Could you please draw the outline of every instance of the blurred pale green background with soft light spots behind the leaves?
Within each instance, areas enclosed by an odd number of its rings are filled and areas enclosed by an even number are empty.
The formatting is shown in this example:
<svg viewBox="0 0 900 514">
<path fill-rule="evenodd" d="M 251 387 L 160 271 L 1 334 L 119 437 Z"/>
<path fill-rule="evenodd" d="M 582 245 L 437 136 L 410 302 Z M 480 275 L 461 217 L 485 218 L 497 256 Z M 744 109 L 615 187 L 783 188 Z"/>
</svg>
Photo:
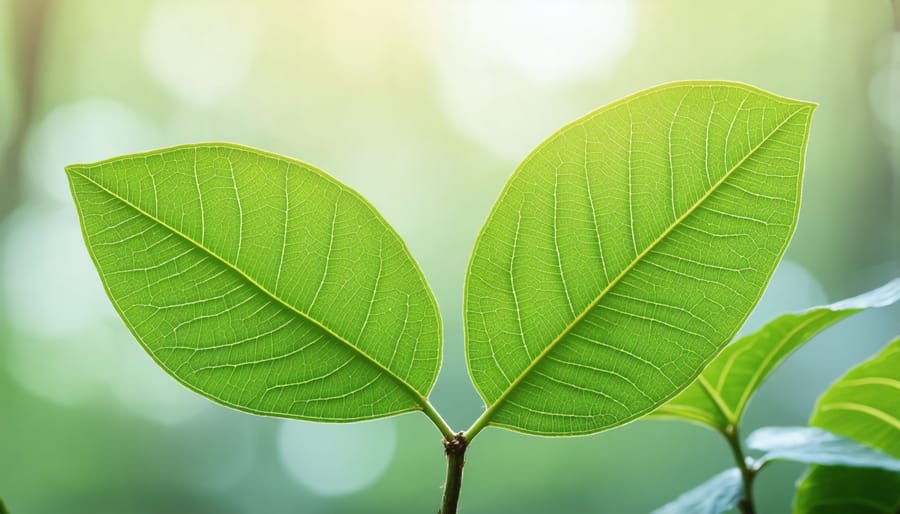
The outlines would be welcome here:
<svg viewBox="0 0 900 514">
<path fill-rule="evenodd" d="M 439 434 L 420 414 L 324 429 L 253 417 L 155 368 L 103 295 L 63 165 L 224 140 L 360 191 L 441 305 L 432 403 L 462 430 L 483 408 L 463 279 L 491 204 L 543 138 L 636 90 L 728 79 L 820 104 L 800 223 L 745 330 L 900 274 L 894 26 L 888 0 L 0 0 L 0 151 L 21 150 L 0 161 L 0 497 L 13 514 L 278 514 L 434 512 L 441 494 Z M 818 337 L 763 386 L 744 433 L 805 423 L 898 332 L 893 307 Z M 461 508 L 649 512 L 729 464 L 683 423 L 489 429 Z M 760 512 L 788 512 L 801 471 L 767 469 Z"/>
</svg>

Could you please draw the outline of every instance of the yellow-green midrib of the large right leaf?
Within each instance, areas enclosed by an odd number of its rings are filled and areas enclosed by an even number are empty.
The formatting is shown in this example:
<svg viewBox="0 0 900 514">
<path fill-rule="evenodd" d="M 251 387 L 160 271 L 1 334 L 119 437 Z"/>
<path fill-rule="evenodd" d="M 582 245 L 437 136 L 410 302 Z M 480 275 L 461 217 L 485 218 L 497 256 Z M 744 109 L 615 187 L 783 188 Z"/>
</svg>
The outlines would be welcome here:
<svg viewBox="0 0 900 514">
<path fill-rule="evenodd" d="M 489 406 L 489 407 L 481 414 L 481 416 L 479 416 L 479 418 L 475 421 L 475 423 L 472 424 L 472 427 L 466 432 L 466 437 L 467 437 L 468 439 L 471 440 L 472 437 L 474 437 L 478 432 L 480 432 L 485 426 L 487 426 L 487 425 L 490 423 L 491 417 L 493 417 L 493 414 L 497 411 L 497 409 L 499 408 L 499 406 L 503 404 L 503 402 L 509 397 L 510 394 L 512 394 L 513 391 L 515 391 L 515 389 L 516 389 L 516 388 L 518 387 L 518 385 L 525 379 L 525 377 L 527 377 L 527 376 L 531 373 L 531 371 L 533 371 L 534 368 L 537 367 L 537 365 L 544 359 L 544 357 L 546 357 L 546 356 L 547 356 L 547 355 L 548 355 L 548 354 L 556 347 L 556 345 L 559 344 L 560 341 L 562 341 L 563 339 L 565 339 L 566 336 L 569 335 L 569 333 L 570 333 L 570 332 L 571 332 L 571 331 L 572 331 L 579 323 L 581 323 L 581 321 L 584 320 L 584 318 L 585 318 L 591 311 L 594 310 L 594 308 L 600 303 L 600 301 L 601 301 L 604 297 L 606 297 L 606 295 L 607 295 L 607 294 L 608 294 L 608 293 L 609 293 L 616 285 L 618 285 L 618 283 L 619 283 L 626 275 L 628 275 L 628 274 L 631 272 L 631 270 L 634 269 L 634 267 L 637 266 L 637 264 L 638 264 L 639 262 L 641 262 L 642 259 L 643 259 L 644 257 L 647 256 L 647 254 L 649 254 L 654 248 L 656 248 L 656 246 L 657 246 L 660 242 L 662 242 L 664 239 L 666 239 L 666 238 L 669 236 L 669 234 L 671 234 L 672 231 L 673 231 L 676 227 L 678 227 L 679 225 L 681 225 L 681 223 L 682 223 L 685 219 L 687 219 L 691 214 L 693 214 L 693 212 L 694 212 L 700 205 L 702 205 L 702 204 L 703 204 L 703 203 L 704 203 L 704 202 L 705 202 L 705 201 L 706 201 L 713 193 L 715 193 L 715 192 L 719 189 L 719 187 L 720 187 L 723 183 L 725 183 L 725 181 L 726 181 L 729 177 L 731 177 L 738 169 L 740 169 L 741 166 L 744 165 L 744 163 L 747 161 L 747 159 L 749 159 L 751 156 L 753 156 L 753 154 L 755 154 L 755 153 L 757 152 L 757 150 L 759 150 L 760 148 L 762 148 L 762 146 L 763 146 L 767 141 L 769 141 L 769 139 L 771 139 L 775 134 L 777 134 L 785 124 L 787 124 L 789 121 L 791 121 L 792 119 L 794 119 L 794 117 L 797 116 L 798 114 L 800 114 L 801 112 L 810 110 L 810 108 L 811 108 L 811 107 L 808 106 L 808 105 L 802 105 L 799 109 L 797 109 L 796 111 L 794 111 L 794 112 L 792 112 L 791 114 L 789 114 L 788 116 L 786 116 L 785 119 L 782 120 L 778 125 L 776 125 L 775 128 L 772 129 L 771 132 L 769 132 L 768 134 L 766 134 L 766 136 L 765 136 L 759 143 L 757 143 L 756 146 L 754 146 L 753 148 L 751 148 L 750 151 L 747 152 L 747 154 L 746 154 L 744 157 L 742 157 L 740 161 L 738 161 L 734 166 L 731 167 L 731 169 L 729 169 L 727 172 L 725 172 L 725 173 L 722 175 L 722 177 L 721 177 L 718 181 L 716 181 L 716 183 L 713 184 L 713 186 L 710 187 L 710 189 L 709 189 L 708 191 L 706 191 L 706 193 L 704 193 L 703 196 L 701 196 L 701 197 L 694 203 L 694 205 L 692 205 L 692 206 L 691 206 L 689 209 L 687 209 L 681 216 L 679 216 L 675 221 L 673 221 L 671 225 L 669 225 L 669 226 L 668 226 L 668 227 L 667 227 L 667 228 L 666 228 L 659 236 L 657 236 L 657 238 L 656 238 L 655 240 L 653 240 L 653 242 L 651 242 L 649 245 L 647 245 L 647 247 L 646 247 L 640 254 L 638 254 L 638 255 L 637 255 L 637 256 L 636 256 L 636 257 L 635 257 L 635 258 L 634 258 L 634 259 L 633 259 L 633 260 L 632 260 L 632 261 L 631 261 L 631 262 L 630 262 L 630 263 L 629 263 L 622 271 L 619 272 L 618 275 L 616 275 L 616 276 L 615 276 L 615 277 L 614 277 L 614 278 L 606 285 L 606 287 L 604 287 L 604 288 L 597 294 L 597 297 L 594 298 L 594 300 L 593 300 L 591 303 L 589 303 L 588 306 L 585 307 L 584 310 L 582 310 L 581 313 L 580 313 L 580 314 L 579 314 L 572 322 L 570 322 L 570 323 L 566 326 L 566 328 L 565 328 L 565 329 L 564 329 L 564 330 L 563 330 L 556 338 L 553 339 L 553 341 L 550 342 L 550 344 L 548 344 L 546 347 L 544 347 L 543 350 L 541 350 L 541 353 L 539 353 L 539 354 L 537 355 L 537 357 L 535 357 L 535 359 L 534 359 L 533 361 L 531 361 L 531 364 L 529 364 L 529 365 L 522 371 L 522 373 L 520 373 L 519 376 L 516 377 L 516 379 L 513 380 L 512 383 L 509 384 L 509 386 L 506 388 L 506 390 L 504 390 L 503 393 L 501 393 L 500 396 L 497 397 L 497 399 L 494 401 L 494 403 L 492 403 L 492 404 L 491 404 L 491 405 L 490 405 L 490 406 Z"/>
</svg>

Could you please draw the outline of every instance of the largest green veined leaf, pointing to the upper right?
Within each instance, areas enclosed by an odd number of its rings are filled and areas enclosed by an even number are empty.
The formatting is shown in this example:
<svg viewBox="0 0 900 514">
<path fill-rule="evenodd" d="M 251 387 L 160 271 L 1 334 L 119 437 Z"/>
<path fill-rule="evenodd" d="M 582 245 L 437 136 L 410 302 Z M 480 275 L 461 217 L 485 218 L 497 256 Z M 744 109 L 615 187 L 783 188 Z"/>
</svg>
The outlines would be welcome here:
<svg viewBox="0 0 900 514">
<path fill-rule="evenodd" d="M 673 83 L 541 143 L 469 264 L 466 354 L 487 410 L 467 435 L 593 433 L 696 378 L 790 239 L 813 109 Z"/>
</svg>

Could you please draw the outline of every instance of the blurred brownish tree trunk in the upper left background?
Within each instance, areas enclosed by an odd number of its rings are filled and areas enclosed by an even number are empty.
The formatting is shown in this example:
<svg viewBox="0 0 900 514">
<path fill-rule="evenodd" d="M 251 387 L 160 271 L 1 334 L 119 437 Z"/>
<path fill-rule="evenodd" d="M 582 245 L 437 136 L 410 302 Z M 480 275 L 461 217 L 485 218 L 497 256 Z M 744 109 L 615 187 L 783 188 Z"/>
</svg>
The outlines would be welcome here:
<svg viewBox="0 0 900 514">
<path fill-rule="evenodd" d="M 48 14 L 54 0 L 11 0 L 13 80 L 16 103 L 12 130 L 0 166 L 0 219 L 18 204 L 22 190 L 22 147 L 38 96 Z"/>
</svg>

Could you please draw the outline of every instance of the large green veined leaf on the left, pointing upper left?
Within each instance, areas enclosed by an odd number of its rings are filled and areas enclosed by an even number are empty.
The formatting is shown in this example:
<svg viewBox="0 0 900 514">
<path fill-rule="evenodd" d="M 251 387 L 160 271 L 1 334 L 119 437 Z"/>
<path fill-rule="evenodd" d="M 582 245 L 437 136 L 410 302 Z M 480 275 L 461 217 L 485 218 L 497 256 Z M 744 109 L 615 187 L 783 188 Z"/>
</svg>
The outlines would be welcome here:
<svg viewBox="0 0 900 514">
<path fill-rule="evenodd" d="M 316 421 L 427 408 L 437 306 L 403 241 L 353 190 L 220 143 L 66 171 L 113 305 L 187 387 Z"/>
</svg>

